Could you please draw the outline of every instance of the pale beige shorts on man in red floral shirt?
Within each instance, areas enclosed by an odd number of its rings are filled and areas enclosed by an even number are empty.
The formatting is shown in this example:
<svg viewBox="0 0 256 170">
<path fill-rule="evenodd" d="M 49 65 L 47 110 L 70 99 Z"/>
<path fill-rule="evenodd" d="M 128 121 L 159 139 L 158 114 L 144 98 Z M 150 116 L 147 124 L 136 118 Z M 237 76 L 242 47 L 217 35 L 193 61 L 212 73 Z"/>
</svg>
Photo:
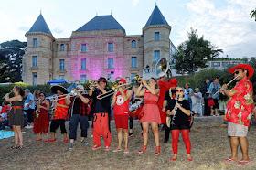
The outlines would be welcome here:
<svg viewBox="0 0 256 170">
<path fill-rule="evenodd" d="M 232 137 L 246 137 L 248 133 L 248 126 L 236 124 L 233 122 L 228 123 L 228 135 Z"/>
</svg>

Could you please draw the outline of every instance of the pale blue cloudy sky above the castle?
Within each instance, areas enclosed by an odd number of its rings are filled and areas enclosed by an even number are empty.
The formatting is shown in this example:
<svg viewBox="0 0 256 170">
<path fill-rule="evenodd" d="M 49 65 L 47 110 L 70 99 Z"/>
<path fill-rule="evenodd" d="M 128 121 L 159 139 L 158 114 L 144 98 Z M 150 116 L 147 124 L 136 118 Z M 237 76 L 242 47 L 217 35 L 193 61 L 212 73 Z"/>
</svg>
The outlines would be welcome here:
<svg viewBox="0 0 256 170">
<path fill-rule="evenodd" d="M 219 57 L 256 57 L 256 22 L 250 19 L 256 0 L 2 0 L 0 43 L 26 41 L 40 11 L 55 38 L 69 38 L 94 16 L 110 14 L 126 35 L 142 35 L 155 4 L 172 27 L 176 47 L 193 27 L 199 37 L 224 50 Z"/>
</svg>

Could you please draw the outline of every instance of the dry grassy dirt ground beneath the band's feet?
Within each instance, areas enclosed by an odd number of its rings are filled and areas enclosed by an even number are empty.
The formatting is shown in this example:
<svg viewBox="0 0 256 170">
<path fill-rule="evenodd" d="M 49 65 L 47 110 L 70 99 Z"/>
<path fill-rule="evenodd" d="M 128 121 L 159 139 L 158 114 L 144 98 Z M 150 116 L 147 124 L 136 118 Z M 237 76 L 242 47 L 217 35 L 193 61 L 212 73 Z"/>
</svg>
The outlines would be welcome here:
<svg viewBox="0 0 256 170">
<path fill-rule="evenodd" d="M 57 132 L 54 143 L 35 142 L 37 136 L 32 129 L 23 129 L 25 148 L 12 150 L 14 137 L 0 140 L 0 169 L 256 169 L 256 126 L 251 126 L 248 134 L 250 143 L 249 155 L 255 162 L 242 167 L 236 163 L 224 164 L 223 159 L 230 155 L 227 125 L 223 124 L 223 116 L 195 118 L 190 132 L 192 143 L 192 162 L 187 161 L 185 144 L 180 135 L 178 159 L 170 161 L 173 155 L 171 140 L 163 143 L 165 132 L 160 132 L 161 154 L 155 156 L 153 133 L 149 133 L 148 149 L 144 154 L 138 154 L 142 149 L 143 139 L 140 137 L 141 127 L 138 120 L 133 121 L 134 135 L 129 138 L 130 154 L 113 153 L 117 146 L 117 132 L 112 121 L 112 146 L 110 151 L 101 149 L 92 151 L 93 140 L 91 128 L 88 130 L 89 145 L 76 141 L 72 150 L 69 143 L 61 143 L 63 136 Z M 90 122 L 91 123 L 91 122 Z M 69 122 L 66 122 L 69 129 Z M 69 134 L 69 131 L 68 131 Z M 80 136 L 80 130 L 78 132 Z M 45 136 L 43 136 L 45 137 Z M 103 140 L 101 140 L 103 146 Z M 241 152 L 239 150 L 239 156 Z"/>
</svg>

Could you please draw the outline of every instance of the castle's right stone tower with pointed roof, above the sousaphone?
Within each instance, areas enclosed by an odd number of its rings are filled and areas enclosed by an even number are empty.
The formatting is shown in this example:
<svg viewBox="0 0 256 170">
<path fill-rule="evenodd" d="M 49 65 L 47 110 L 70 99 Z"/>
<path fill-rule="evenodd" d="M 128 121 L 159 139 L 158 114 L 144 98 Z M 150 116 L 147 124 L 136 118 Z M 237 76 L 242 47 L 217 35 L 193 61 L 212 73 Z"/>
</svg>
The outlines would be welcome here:
<svg viewBox="0 0 256 170">
<path fill-rule="evenodd" d="M 170 58 L 171 28 L 155 5 L 155 9 L 143 28 L 144 69 L 154 69 L 160 58 Z"/>
</svg>

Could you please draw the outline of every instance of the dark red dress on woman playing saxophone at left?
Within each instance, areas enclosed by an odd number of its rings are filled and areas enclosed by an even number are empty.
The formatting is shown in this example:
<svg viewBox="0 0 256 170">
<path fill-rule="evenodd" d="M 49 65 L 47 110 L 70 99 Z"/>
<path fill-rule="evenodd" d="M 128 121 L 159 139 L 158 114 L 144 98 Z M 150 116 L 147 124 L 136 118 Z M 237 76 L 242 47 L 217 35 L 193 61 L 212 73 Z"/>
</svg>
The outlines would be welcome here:
<svg viewBox="0 0 256 170">
<path fill-rule="evenodd" d="M 42 103 L 41 106 L 47 107 L 47 104 Z M 41 108 L 39 118 L 35 119 L 35 122 L 34 122 L 34 128 L 33 128 L 34 134 L 48 133 L 48 126 L 49 126 L 48 111 Z"/>
</svg>

